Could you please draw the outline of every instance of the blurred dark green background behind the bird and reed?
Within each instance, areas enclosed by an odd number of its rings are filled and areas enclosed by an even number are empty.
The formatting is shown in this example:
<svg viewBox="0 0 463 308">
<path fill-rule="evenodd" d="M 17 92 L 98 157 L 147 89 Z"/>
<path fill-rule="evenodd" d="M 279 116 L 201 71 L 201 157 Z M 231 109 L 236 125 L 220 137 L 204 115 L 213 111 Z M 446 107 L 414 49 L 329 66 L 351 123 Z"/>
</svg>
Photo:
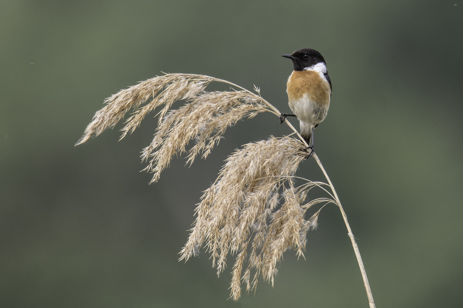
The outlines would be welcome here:
<svg viewBox="0 0 463 308">
<path fill-rule="evenodd" d="M 152 185 L 139 172 L 151 116 L 74 147 L 106 97 L 161 71 L 256 84 L 289 112 L 280 55 L 306 47 L 333 82 L 316 151 L 377 307 L 462 307 L 462 38 L 461 0 L 1 1 L 0 307 L 368 307 L 334 206 L 307 260 L 287 252 L 275 287 L 238 302 L 230 264 L 218 278 L 205 252 L 177 261 L 226 156 L 291 132 L 274 115 Z M 298 175 L 323 179 L 313 159 Z"/>
</svg>

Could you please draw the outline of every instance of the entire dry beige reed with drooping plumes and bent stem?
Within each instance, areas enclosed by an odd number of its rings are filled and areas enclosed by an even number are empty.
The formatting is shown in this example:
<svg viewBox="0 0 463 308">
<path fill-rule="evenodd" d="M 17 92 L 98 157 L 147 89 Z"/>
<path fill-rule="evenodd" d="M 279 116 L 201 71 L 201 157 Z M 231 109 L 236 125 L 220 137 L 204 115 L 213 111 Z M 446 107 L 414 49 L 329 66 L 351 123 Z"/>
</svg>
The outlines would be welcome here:
<svg viewBox="0 0 463 308">
<path fill-rule="evenodd" d="M 238 90 L 205 91 L 211 82 L 223 82 Z M 95 113 L 76 145 L 88 141 L 92 135 L 98 136 L 106 128 L 113 128 L 125 113 L 133 110 L 122 128 L 121 138 L 124 138 L 148 113 L 159 107 L 156 133 L 141 156 L 148 161 L 145 170 L 154 173 L 151 182 L 156 182 L 174 155 L 187 153 L 187 163 L 190 164 L 198 155 L 206 158 L 226 128 L 240 119 L 252 118 L 265 111 L 280 115 L 260 96 L 258 88 L 254 90 L 256 93 L 205 75 L 157 76 L 106 99 L 106 106 Z M 179 100 L 186 101 L 186 104 L 171 109 Z M 343 215 L 369 305 L 374 308 L 360 252 L 332 182 L 316 154 L 313 157 L 328 183 L 294 176 L 299 163 L 307 156 L 307 152 L 301 151 L 307 144 L 294 127 L 287 120 L 285 122 L 300 140 L 290 136 L 271 137 L 244 145 L 226 159 L 219 177 L 201 197 L 194 227 L 180 252 L 180 259 L 188 260 L 205 245 L 220 274 L 226 267 L 227 255 L 236 256 L 230 289 L 231 297 L 237 300 L 241 295 L 241 284 L 246 284 L 248 292 L 256 289 L 261 275 L 273 285 L 276 264 L 284 251 L 294 249 L 298 256 L 303 256 L 307 231 L 316 227 L 321 208 L 334 203 Z M 194 141 L 194 145 L 187 150 L 190 141 Z M 302 185 L 295 186 L 297 180 L 303 182 Z M 329 197 L 308 201 L 307 193 L 315 187 L 324 190 Z M 321 203 L 323 206 L 306 220 L 307 210 Z"/>
</svg>

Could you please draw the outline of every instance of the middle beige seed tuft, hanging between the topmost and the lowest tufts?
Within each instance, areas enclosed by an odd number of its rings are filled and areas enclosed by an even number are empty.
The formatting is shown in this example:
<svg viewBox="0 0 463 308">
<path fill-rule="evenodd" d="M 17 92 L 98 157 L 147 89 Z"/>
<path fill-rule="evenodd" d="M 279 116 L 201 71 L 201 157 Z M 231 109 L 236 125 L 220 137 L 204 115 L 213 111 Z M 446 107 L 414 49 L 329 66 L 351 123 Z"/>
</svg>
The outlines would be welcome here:
<svg viewBox="0 0 463 308">
<path fill-rule="evenodd" d="M 187 105 L 169 111 L 142 152 L 143 160 L 149 160 L 145 170 L 154 173 L 151 182 L 159 179 L 174 154 L 187 152 L 190 140 L 195 142 L 187 155 L 187 163 L 191 164 L 200 153 L 207 157 L 228 126 L 265 111 L 269 110 L 262 99 L 247 91 L 202 92 L 189 99 Z"/>
</svg>

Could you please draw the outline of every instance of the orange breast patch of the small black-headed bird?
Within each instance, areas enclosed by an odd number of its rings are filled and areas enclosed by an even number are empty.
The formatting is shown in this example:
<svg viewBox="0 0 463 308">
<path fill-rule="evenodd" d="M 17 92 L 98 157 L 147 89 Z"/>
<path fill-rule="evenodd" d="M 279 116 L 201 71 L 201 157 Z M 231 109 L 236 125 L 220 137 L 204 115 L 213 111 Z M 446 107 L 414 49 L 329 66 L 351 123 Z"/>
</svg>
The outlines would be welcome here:
<svg viewBox="0 0 463 308">
<path fill-rule="evenodd" d="M 293 71 L 286 85 L 289 101 L 298 101 L 306 94 L 320 107 L 327 107 L 330 104 L 330 84 L 316 71 Z"/>
</svg>

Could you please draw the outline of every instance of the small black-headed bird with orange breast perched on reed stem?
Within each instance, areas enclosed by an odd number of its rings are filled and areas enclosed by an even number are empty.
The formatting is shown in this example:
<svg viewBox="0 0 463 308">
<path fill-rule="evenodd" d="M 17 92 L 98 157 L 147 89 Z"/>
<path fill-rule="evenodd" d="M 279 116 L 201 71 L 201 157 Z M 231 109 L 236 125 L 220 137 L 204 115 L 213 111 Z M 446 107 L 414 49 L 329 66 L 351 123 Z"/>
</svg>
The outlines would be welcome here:
<svg viewBox="0 0 463 308">
<path fill-rule="evenodd" d="M 304 150 L 314 152 L 313 129 L 326 117 L 330 107 L 332 84 L 325 58 L 311 48 L 303 48 L 294 51 L 290 55 L 282 55 L 293 62 L 294 70 L 289 75 L 286 83 L 289 108 L 294 114 L 281 113 L 280 123 L 286 117 L 299 119 L 300 135 L 309 145 Z"/>
</svg>

